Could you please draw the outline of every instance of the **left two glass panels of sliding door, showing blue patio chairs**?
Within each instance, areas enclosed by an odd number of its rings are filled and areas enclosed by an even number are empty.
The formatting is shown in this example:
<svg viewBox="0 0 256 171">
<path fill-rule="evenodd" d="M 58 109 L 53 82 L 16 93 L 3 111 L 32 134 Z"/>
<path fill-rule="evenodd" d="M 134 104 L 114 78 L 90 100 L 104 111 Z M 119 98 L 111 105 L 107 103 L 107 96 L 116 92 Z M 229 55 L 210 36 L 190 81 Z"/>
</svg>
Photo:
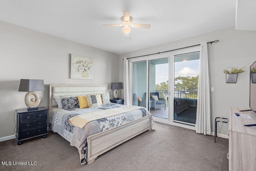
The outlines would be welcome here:
<svg viewBox="0 0 256 171">
<path fill-rule="evenodd" d="M 132 63 L 132 105 L 168 119 L 168 58 Z"/>
</svg>

